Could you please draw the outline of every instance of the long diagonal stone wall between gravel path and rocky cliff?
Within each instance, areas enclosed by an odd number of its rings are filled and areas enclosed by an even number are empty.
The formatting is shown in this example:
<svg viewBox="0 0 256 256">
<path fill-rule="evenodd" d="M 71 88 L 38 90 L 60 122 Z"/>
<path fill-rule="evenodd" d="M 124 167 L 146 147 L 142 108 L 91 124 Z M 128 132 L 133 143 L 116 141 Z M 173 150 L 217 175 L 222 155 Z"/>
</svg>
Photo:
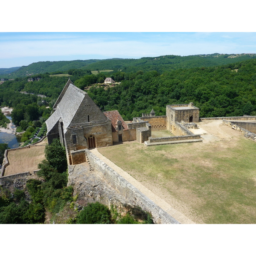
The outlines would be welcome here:
<svg viewBox="0 0 256 256">
<path fill-rule="evenodd" d="M 131 185 L 122 176 L 116 173 L 106 163 L 96 157 L 88 149 L 85 149 L 87 158 L 93 167 L 93 170 L 111 184 L 125 198 L 132 199 L 134 205 L 137 205 L 146 212 L 151 213 L 154 223 L 157 224 L 180 224 L 175 218 L 172 218 L 162 208 L 154 204 L 149 198 L 141 193 L 136 187 Z"/>
</svg>

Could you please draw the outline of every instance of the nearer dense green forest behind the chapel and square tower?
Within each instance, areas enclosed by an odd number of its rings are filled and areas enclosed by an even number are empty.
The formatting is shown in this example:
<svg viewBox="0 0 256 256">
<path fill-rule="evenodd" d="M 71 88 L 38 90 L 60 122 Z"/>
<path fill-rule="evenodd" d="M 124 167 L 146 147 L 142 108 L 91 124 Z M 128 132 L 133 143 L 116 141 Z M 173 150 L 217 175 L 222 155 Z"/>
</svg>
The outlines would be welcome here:
<svg viewBox="0 0 256 256">
<path fill-rule="evenodd" d="M 256 59 L 163 73 L 139 70 L 77 74 L 70 79 L 83 89 L 108 76 L 121 83 L 114 87 L 93 85 L 87 92 L 102 111 L 118 110 L 125 120 L 149 113 L 152 108 L 156 115 L 165 115 L 166 105 L 189 102 L 200 108 L 201 117 L 256 115 Z M 52 107 L 67 79 L 41 74 L 33 81 L 27 77 L 5 81 L 0 85 L 0 105 L 25 109 L 23 105 L 31 104 L 32 96 L 19 92 L 26 91 L 47 96 Z M 41 98 L 33 101 L 41 104 Z"/>
</svg>

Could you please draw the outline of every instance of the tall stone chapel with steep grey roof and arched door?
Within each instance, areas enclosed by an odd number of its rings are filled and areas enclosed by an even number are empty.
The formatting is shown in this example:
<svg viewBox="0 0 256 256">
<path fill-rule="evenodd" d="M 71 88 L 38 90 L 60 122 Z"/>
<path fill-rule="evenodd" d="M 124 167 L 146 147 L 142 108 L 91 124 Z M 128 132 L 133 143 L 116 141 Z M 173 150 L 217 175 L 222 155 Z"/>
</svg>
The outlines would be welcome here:
<svg viewBox="0 0 256 256">
<path fill-rule="evenodd" d="M 70 79 L 53 110 L 46 121 L 48 143 L 60 138 L 69 164 L 72 164 L 70 151 L 113 145 L 111 120 Z"/>
</svg>

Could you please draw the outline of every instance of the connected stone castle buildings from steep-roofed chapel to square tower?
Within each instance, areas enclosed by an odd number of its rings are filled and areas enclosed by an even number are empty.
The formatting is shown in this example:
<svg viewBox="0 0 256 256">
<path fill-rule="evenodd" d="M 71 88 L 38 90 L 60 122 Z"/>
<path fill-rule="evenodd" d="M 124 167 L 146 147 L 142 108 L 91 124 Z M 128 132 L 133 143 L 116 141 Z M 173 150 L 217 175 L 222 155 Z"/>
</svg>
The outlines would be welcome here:
<svg viewBox="0 0 256 256">
<path fill-rule="evenodd" d="M 151 130 L 167 129 L 175 135 L 157 138 L 161 143 L 180 140 L 182 136 L 182 140 L 201 141 L 198 140 L 200 135 L 192 134 L 179 123 L 181 120 L 198 122 L 199 109 L 192 103 L 167 105 L 166 116 L 155 116 L 152 109 L 150 114 L 143 114 L 142 117 L 134 118 L 133 122 L 126 123 L 117 110 L 102 112 L 88 94 L 69 79 L 53 106 L 53 111 L 46 121 L 48 143 L 51 144 L 53 139 L 60 138 L 70 165 L 77 163 L 73 156 L 85 148 L 105 147 L 133 140 L 145 145 L 157 143 L 155 138 L 151 137 Z"/>
</svg>

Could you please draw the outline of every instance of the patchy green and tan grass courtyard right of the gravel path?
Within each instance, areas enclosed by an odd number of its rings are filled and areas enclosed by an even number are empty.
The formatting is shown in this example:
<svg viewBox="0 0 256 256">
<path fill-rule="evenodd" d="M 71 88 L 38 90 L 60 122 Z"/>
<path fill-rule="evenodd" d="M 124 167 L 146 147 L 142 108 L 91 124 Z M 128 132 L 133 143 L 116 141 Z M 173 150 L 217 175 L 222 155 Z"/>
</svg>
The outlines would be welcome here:
<svg viewBox="0 0 256 256">
<path fill-rule="evenodd" d="M 221 121 L 200 122 L 203 143 L 98 151 L 196 223 L 256 223 L 256 143 Z"/>
</svg>

